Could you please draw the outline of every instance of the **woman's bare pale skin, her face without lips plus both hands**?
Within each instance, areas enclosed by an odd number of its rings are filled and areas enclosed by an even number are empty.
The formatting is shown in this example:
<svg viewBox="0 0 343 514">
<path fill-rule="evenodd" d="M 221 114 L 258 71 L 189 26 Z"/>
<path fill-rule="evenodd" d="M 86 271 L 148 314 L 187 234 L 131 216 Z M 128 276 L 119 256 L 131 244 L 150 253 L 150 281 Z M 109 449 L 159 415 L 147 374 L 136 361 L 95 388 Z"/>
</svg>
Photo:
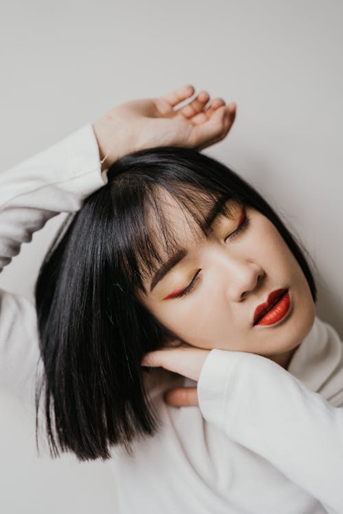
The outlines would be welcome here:
<svg viewBox="0 0 343 514">
<path fill-rule="evenodd" d="M 178 103 L 187 99 L 188 105 L 178 108 Z M 211 100 L 204 91 L 194 95 L 193 86 L 182 86 L 155 99 L 123 103 L 93 124 L 100 156 L 107 155 L 102 169 L 147 147 L 208 147 L 228 134 L 235 114 L 235 103 L 226 106 L 224 100 Z M 142 365 L 163 367 L 198 381 L 209 352 L 220 348 L 257 353 L 287 369 L 311 328 L 315 310 L 305 276 L 274 225 L 259 212 L 247 209 L 250 226 L 235 242 L 227 242 L 228 234 L 237 228 L 239 211 L 234 206 L 237 213 L 233 219 L 217 220 L 204 241 L 200 234 L 198 239 L 193 237 L 196 230 L 189 227 L 171 199 L 163 201 L 176 231 L 184 236 L 189 256 L 141 301 L 180 339 L 146 354 Z M 259 244 L 261 237 L 264 245 Z M 186 287 L 198 269 L 202 270 L 200 284 L 189 295 L 163 300 L 174 289 Z M 283 286 L 289 287 L 294 304 L 289 320 L 274 328 L 252 327 L 255 306 Z M 192 313 L 196 315 L 192 317 Z M 197 389 L 172 389 L 165 401 L 173 406 L 198 405 Z"/>
</svg>

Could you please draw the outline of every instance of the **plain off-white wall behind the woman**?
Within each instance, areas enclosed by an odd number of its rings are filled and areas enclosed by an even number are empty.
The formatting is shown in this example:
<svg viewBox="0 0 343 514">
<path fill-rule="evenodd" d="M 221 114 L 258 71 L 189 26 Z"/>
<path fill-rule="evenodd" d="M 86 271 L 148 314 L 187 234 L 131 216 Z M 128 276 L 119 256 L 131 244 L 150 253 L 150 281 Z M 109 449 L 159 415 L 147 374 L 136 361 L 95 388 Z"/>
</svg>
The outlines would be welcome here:
<svg viewBox="0 0 343 514">
<path fill-rule="evenodd" d="M 339 0 L 1 2 L 1 169 L 121 101 L 184 83 L 237 102 L 207 150 L 265 195 L 318 268 L 318 315 L 343 338 L 343 4 Z M 0 286 L 31 295 L 64 215 L 24 244 Z M 32 420 L 4 393 L 0 511 L 115 512 L 106 463 L 35 456 Z"/>
</svg>

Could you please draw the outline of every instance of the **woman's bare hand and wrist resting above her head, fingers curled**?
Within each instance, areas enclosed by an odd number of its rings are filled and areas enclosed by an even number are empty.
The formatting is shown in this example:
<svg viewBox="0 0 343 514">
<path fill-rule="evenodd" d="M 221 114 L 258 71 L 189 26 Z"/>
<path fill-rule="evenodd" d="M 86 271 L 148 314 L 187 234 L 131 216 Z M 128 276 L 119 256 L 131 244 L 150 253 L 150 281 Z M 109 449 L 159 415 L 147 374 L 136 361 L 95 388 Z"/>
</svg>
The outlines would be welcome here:
<svg viewBox="0 0 343 514">
<path fill-rule="evenodd" d="M 224 100 L 210 101 L 202 91 L 187 105 L 193 86 L 182 86 L 163 97 L 133 100 L 111 109 L 93 123 L 102 169 L 132 151 L 161 146 L 201 150 L 224 139 L 235 121 L 236 105 Z"/>
</svg>

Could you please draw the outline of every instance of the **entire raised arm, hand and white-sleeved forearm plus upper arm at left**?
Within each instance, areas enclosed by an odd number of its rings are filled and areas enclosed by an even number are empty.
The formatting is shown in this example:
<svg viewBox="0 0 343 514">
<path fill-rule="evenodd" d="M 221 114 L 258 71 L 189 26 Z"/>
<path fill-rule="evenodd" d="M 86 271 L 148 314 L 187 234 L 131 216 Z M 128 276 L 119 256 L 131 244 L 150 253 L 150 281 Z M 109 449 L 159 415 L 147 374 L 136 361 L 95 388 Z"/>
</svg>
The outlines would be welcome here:
<svg viewBox="0 0 343 514">
<path fill-rule="evenodd" d="M 201 148 L 224 138 L 235 104 L 193 93 L 193 87 L 183 86 L 163 97 L 124 103 L 1 172 L 0 271 L 51 217 L 79 210 L 106 184 L 106 168 L 120 156 L 149 146 Z M 187 106 L 177 108 L 180 101 L 188 101 Z M 0 302 L 0 385 L 33 406 L 36 311 L 27 299 L 1 289 Z"/>
</svg>

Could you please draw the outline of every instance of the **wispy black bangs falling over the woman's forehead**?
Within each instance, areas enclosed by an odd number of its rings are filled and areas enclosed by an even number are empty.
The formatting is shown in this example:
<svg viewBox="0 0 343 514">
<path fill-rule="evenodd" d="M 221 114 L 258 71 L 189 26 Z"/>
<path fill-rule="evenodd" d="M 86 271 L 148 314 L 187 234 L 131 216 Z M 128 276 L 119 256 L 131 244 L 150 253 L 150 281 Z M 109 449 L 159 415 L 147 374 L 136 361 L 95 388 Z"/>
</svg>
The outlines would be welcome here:
<svg viewBox="0 0 343 514">
<path fill-rule="evenodd" d="M 174 170 L 172 178 L 159 174 L 154 180 L 151 175 L 134 175 L 130 169 L 128 175 L 119 175 L 112 182 L 113 219 L 119 238 L 115 247 L 131 291 L 140 289 L 147 295 L 145 284 L 181 247 L 180 232 L 165 214 L 165 193 L 180 207 L 195 236 L 196 230 L 207 236 L 217 215 L 233 218 L 232 201 L 244 203 L 237 193 L 215 184 L 211 177 L 205 181 L 188 168 L 178 171 Z"/>
</svg>

